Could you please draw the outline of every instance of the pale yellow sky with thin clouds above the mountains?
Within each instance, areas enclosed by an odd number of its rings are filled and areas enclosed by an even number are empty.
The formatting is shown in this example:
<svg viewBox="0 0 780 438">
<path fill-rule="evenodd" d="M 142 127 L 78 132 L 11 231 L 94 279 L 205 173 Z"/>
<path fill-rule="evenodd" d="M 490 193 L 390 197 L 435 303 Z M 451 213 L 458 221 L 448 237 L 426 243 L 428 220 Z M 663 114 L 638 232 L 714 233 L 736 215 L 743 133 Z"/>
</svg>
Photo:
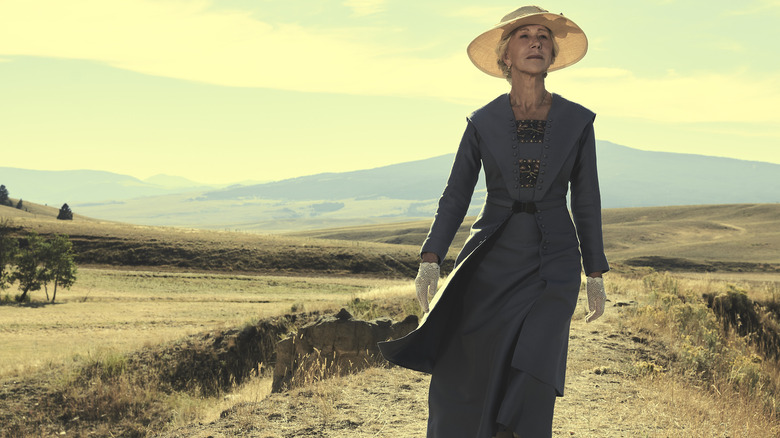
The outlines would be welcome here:
<svg viewBox="0 0 780 438">
<path fill-rule="evenodd" d="M 507 91 L 465 46 L 519 6 L 3 0 L 0 166 L 226 183 L 453 152 Z M 542 6 L 589 37 L 548 88 L 597 112 L 597 138 L 780 163 L 777 0 Z"/>
</svg>

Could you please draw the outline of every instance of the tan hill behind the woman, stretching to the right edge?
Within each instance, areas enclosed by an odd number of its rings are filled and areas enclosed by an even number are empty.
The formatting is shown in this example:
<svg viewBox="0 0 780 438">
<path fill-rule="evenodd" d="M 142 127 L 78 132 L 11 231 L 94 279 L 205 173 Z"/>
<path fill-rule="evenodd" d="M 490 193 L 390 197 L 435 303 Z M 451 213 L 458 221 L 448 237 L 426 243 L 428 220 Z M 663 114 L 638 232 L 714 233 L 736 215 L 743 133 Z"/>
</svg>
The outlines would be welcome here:
<svg viewBox="0 0 780 438">
<path fill-rule="evenodd" d="M 777 271 L 780 269 L 778 218 L 780 204 L 608 209 L 603 213 L 604 246 L 610 261 L 637 266 L 688 271 Z M 464 220 L 448 257 L 454 257 L 462 246 L 473 220 Z M 414 246 L 425 239 L 429 227 L 430 221 L 416 221 L 289 235 Z"/>
</svg>

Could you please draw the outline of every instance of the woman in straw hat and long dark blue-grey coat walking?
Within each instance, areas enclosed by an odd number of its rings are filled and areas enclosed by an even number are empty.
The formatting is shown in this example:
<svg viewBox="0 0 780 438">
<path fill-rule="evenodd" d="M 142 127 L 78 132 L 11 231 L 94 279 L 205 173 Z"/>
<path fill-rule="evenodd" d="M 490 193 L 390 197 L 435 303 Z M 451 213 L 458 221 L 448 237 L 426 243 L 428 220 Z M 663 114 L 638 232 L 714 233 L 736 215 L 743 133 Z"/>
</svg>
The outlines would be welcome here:
<svg viewBox="0 0 780 438">
<path fill-rule="evenodd" d="M 569 324 L 588 274 L 588 322 L 604 310 L 595 115 L 544 84 L 579 61 L 582 30 L 562 15 L 520 8 L 468 47 L 508 94 L 467 118 L 415 281 L 425 311 L 408 336 L 380 344 L 398 365 L 432 374 L 429 437 L 543 437 L 563 395 Z M 487 198 L 440 293 L 438 263 L 484 166 Z M 571 186 L 571 209 L 566 208 Z"/>
</svg>

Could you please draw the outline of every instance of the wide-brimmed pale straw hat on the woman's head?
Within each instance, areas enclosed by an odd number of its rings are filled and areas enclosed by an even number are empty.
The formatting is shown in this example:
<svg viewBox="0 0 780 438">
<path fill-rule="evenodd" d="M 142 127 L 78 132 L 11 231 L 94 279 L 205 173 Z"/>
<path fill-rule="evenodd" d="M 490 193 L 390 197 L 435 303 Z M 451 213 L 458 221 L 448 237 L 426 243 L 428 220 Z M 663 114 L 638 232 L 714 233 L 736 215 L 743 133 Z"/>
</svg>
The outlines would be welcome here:
<svg viewBox="0 0 780 438">
<path fill-rule="evenodd" d="M 474 38 L 466 52 L 478 69 L 483 72 L 503 78 L 504 74 L 498 66 L 496 49 L 501 39 L 520 26 L 540 24 L 546 26 L 553 34 L 558 52 L 555 62 L 547 71 L 568 67 L 582 59 L 588 51 L 588 38 L 585 32 L 563 14 L 552 14 L 538 6 L 523 6 L 510 12 L 487 32 Z"/>
</svg>

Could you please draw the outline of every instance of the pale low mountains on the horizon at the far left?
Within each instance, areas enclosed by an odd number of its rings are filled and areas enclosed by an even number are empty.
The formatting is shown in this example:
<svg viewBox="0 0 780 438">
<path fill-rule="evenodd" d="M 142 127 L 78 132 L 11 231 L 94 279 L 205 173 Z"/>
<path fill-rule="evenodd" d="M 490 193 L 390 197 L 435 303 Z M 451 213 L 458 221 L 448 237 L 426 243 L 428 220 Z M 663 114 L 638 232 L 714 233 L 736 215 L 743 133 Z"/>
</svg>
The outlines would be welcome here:
<svg viewBox="0 0 780 438">
<path fill-rule="evenodd" d="M 214 190 L 184 178 L 158 175 L 138 178 L 99 170 L 29 170 L 0 167 L 0 184 L 12 198 L 41 204 L 117 202 L 182 191 Z"/>
</svg>

